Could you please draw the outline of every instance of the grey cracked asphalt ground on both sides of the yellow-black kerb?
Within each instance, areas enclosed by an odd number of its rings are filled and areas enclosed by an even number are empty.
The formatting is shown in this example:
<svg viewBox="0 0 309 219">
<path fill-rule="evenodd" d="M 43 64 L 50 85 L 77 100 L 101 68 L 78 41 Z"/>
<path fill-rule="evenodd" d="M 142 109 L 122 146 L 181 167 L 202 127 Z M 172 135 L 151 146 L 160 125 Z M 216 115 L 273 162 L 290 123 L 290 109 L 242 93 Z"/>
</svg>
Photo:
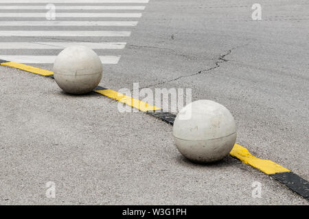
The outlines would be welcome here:
<svg viewBox="0 0 309 219">
<path fill-rule="evenodd" d="M 87 27 L 131 31 L 125 40 L 108 38 L 126 46 L 107 51 L 121 58 L 117 64 L 104 64 L 100 86 L 133 89 L 139 82 L 140 88 L 152 90 L 192 88 L 193 101 L 211 99 L 231 110 L 239 144 L 309 180 L 309 5 L 306 1 L 260 4 L 262 20 L 253 21 L 251 1 L 150 1 L 135 4 L 146 5 L 136 26 Z M 24 28 L 18 27 L 26 32 L 59 27 Z M 56 38 L 55 42 L 106 41 L 106 37 Z M 10 47 L 29 42 L 25 39 L 29 38 L 5 36 L 0 41 Z M 31 40 L 50 41 L 45 36 Z M 58 53 L 12 48 L 0 52 Z M 104 49 L 97 52 L 107 55 Z M 52 64 L 32 65 L 52 69 Z M 4 67 L 0 83 L 1 204 L 308 205 L 231 157 L 209 166 L 187 162 L 174 146 L 170 125 L 142 113 L 121 114 L 115 101 L 98 94 L 67 95 L 51 79 Z M 56 198 L 45 196 L 48 181 L 56 183 Z M 262 198 L 251 196 L 254 181 L 262 183 Z"/>
</svg>

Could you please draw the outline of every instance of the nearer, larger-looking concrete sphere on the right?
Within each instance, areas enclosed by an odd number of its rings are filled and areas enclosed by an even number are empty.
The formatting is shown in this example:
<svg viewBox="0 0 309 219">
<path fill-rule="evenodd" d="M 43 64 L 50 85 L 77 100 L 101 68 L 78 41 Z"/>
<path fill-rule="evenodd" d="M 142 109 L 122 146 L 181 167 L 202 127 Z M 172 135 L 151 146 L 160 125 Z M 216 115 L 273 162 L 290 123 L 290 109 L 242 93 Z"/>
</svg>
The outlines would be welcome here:
<svg viewBox="0 0 309 219">
<path fill-rule="evenodd" d="M 191 111 L 190 111 L 191 110 Z M 190 118 L 181 118 L 190 112 Z M 173 136 L 179 152 L 192 162 L 216 162 L 226 157 L 236 142 L 236 124 L 223 105 L 199 100 L 188 104 L 174 120 Z"/>
</svg>

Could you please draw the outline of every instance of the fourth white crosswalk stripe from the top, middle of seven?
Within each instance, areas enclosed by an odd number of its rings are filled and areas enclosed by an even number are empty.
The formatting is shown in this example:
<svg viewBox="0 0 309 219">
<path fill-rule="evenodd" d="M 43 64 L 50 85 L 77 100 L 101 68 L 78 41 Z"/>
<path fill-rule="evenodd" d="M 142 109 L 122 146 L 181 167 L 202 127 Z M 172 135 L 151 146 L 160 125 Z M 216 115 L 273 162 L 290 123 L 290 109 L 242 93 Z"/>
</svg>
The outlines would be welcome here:
<svg viewBox="0 0 309 219">
<path fill-rule="evenodd" d="M 1 21 L 0 26 L 136 26 L 137 21 Z"/>
</svg>

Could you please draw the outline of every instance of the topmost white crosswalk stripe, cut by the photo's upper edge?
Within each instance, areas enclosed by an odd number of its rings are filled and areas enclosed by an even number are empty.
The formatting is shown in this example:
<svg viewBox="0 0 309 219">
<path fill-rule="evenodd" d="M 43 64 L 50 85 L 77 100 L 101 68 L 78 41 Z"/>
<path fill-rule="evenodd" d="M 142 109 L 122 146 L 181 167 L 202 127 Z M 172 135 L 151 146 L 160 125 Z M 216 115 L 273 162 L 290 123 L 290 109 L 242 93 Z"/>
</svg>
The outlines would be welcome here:
<svg viewBox="0 0 309 219">
<path fill-rule="evenodd" d="M 14 0 L 14 3 L 148 3 L 149 0 Z M 0 3 L 11 4 L 10 0 Z"/>
</svg>

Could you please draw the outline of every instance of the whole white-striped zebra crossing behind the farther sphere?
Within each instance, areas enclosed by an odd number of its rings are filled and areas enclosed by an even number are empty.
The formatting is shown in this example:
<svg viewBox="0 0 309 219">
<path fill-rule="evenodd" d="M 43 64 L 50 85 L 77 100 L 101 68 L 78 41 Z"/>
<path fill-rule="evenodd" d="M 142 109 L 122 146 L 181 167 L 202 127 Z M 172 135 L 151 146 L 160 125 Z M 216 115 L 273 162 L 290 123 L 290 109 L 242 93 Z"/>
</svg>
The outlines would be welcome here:
<svg viewBox="0 0 309 219">
<path fill-rule="evenodd" d="M 55 5 L 55 20 L 47 18 L 49 3 Z M 0 60 L 52 64 L 59 51 L 81 44 L 98 53 L 102 64 L 117 64 L 130 28 L 137 25 L 146 3 L 148 0 L 0 0 Z"/>
</svg>

